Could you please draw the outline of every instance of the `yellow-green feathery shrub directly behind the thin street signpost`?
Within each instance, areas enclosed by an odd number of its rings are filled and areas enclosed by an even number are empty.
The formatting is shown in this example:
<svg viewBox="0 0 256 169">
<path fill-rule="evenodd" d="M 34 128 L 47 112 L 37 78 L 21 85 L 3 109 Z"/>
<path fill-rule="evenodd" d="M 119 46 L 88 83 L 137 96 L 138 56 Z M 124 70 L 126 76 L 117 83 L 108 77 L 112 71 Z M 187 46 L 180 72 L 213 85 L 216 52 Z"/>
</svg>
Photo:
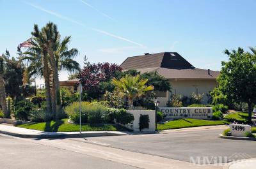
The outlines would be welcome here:
<svg viewBox="0 0 256 169">
<path fill-rule="evenodd" d="M 81 122 L 88 122 L 88 114 L 86 112 L 86 107 L 90 106 L 89 102 L 81 102 Z M 65 107 L 64 112 L 68 115 L 72 122 L 79 122 L 79 102 L 74 102 Z"/>
</svg>

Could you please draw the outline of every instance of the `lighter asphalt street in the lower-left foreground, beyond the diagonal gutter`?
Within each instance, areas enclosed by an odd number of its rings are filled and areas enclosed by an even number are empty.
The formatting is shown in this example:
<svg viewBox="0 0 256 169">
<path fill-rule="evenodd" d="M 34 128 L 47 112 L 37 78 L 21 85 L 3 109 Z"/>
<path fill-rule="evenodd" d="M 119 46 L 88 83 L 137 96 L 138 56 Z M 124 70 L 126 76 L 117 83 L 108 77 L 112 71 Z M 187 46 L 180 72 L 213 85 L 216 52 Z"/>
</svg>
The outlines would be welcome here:
<svg viewBox="0 0 256 169">
<path fill-rule="evenodd" d="M 43 168 L 122 168 L 136 167 L 116 163 L 107 159 L 87 156 L 79 152 L 29 142 L 25 139 L 0 135 L 0 168 L 43 169 Z"/>
</svg>

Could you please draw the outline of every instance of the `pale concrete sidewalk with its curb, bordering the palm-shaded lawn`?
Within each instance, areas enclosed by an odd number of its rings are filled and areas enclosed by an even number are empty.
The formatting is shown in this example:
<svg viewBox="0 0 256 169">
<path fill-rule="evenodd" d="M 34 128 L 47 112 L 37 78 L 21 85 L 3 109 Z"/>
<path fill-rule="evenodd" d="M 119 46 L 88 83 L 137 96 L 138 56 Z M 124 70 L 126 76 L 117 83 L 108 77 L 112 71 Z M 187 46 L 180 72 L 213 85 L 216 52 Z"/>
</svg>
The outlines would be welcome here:
<svg viewBox="0 0 256 169">
<path fill-rule="evenodd" d="M 79 132 L 45 132 L 35 129 L 18 128 L 14 126 L 0 124 L 0 133 L 11 136 L 19 136 L 22 138 L 77 138 L 77 137 L 92 137 L 92 136 L 118 136 L 131 135 L 130 132 L 120 131 L 82 131 Z"/>
</svg>

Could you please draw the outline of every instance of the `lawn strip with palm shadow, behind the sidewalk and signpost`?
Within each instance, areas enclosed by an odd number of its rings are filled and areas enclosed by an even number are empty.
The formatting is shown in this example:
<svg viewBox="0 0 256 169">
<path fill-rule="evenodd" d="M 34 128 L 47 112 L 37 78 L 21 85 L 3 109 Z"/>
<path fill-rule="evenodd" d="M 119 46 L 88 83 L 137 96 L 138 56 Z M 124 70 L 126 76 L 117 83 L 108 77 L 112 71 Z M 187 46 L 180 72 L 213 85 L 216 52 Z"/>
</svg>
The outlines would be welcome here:
<svg viewBox="0 0 256 169">
<path fill-rule="evenodd" d="M 33 122 L 29 124 L 22 124 L 17 127 L 36 129 L 47 132 L 71 132 L 79 131 L 79 124 L 70 124 L 68 119 L 62 119 L 60 121 L 51 122 Z M 81 126 L 82 131 L 127 131 L 126 128 L 115 124 L 83 124 Z"/>
</svg>

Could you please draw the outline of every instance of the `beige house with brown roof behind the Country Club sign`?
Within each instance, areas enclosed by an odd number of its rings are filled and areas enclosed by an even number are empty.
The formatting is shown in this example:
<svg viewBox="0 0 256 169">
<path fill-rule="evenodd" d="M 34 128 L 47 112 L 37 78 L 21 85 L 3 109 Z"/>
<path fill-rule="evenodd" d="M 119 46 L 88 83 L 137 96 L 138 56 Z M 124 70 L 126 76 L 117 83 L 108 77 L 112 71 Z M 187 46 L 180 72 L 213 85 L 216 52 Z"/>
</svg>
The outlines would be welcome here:
<svg viewBox="0 0 256 169">
<path fill-rule="evenodd" d="M 128 57 L 120 65 L 123 70 L 137 70 L 141 73 L 156 71 L 170 80 L 172 91 L 157 92 L 160 106 L 166 106 L 172 94 L 181 94 L 191 98 L 191 94 L 203 94 L 203 103 L 207 103 L 209 92 L 216 87 L 216 78 L 220 71 L 195 68 L 177 52 L 161 52 Z"/>
</svg>

